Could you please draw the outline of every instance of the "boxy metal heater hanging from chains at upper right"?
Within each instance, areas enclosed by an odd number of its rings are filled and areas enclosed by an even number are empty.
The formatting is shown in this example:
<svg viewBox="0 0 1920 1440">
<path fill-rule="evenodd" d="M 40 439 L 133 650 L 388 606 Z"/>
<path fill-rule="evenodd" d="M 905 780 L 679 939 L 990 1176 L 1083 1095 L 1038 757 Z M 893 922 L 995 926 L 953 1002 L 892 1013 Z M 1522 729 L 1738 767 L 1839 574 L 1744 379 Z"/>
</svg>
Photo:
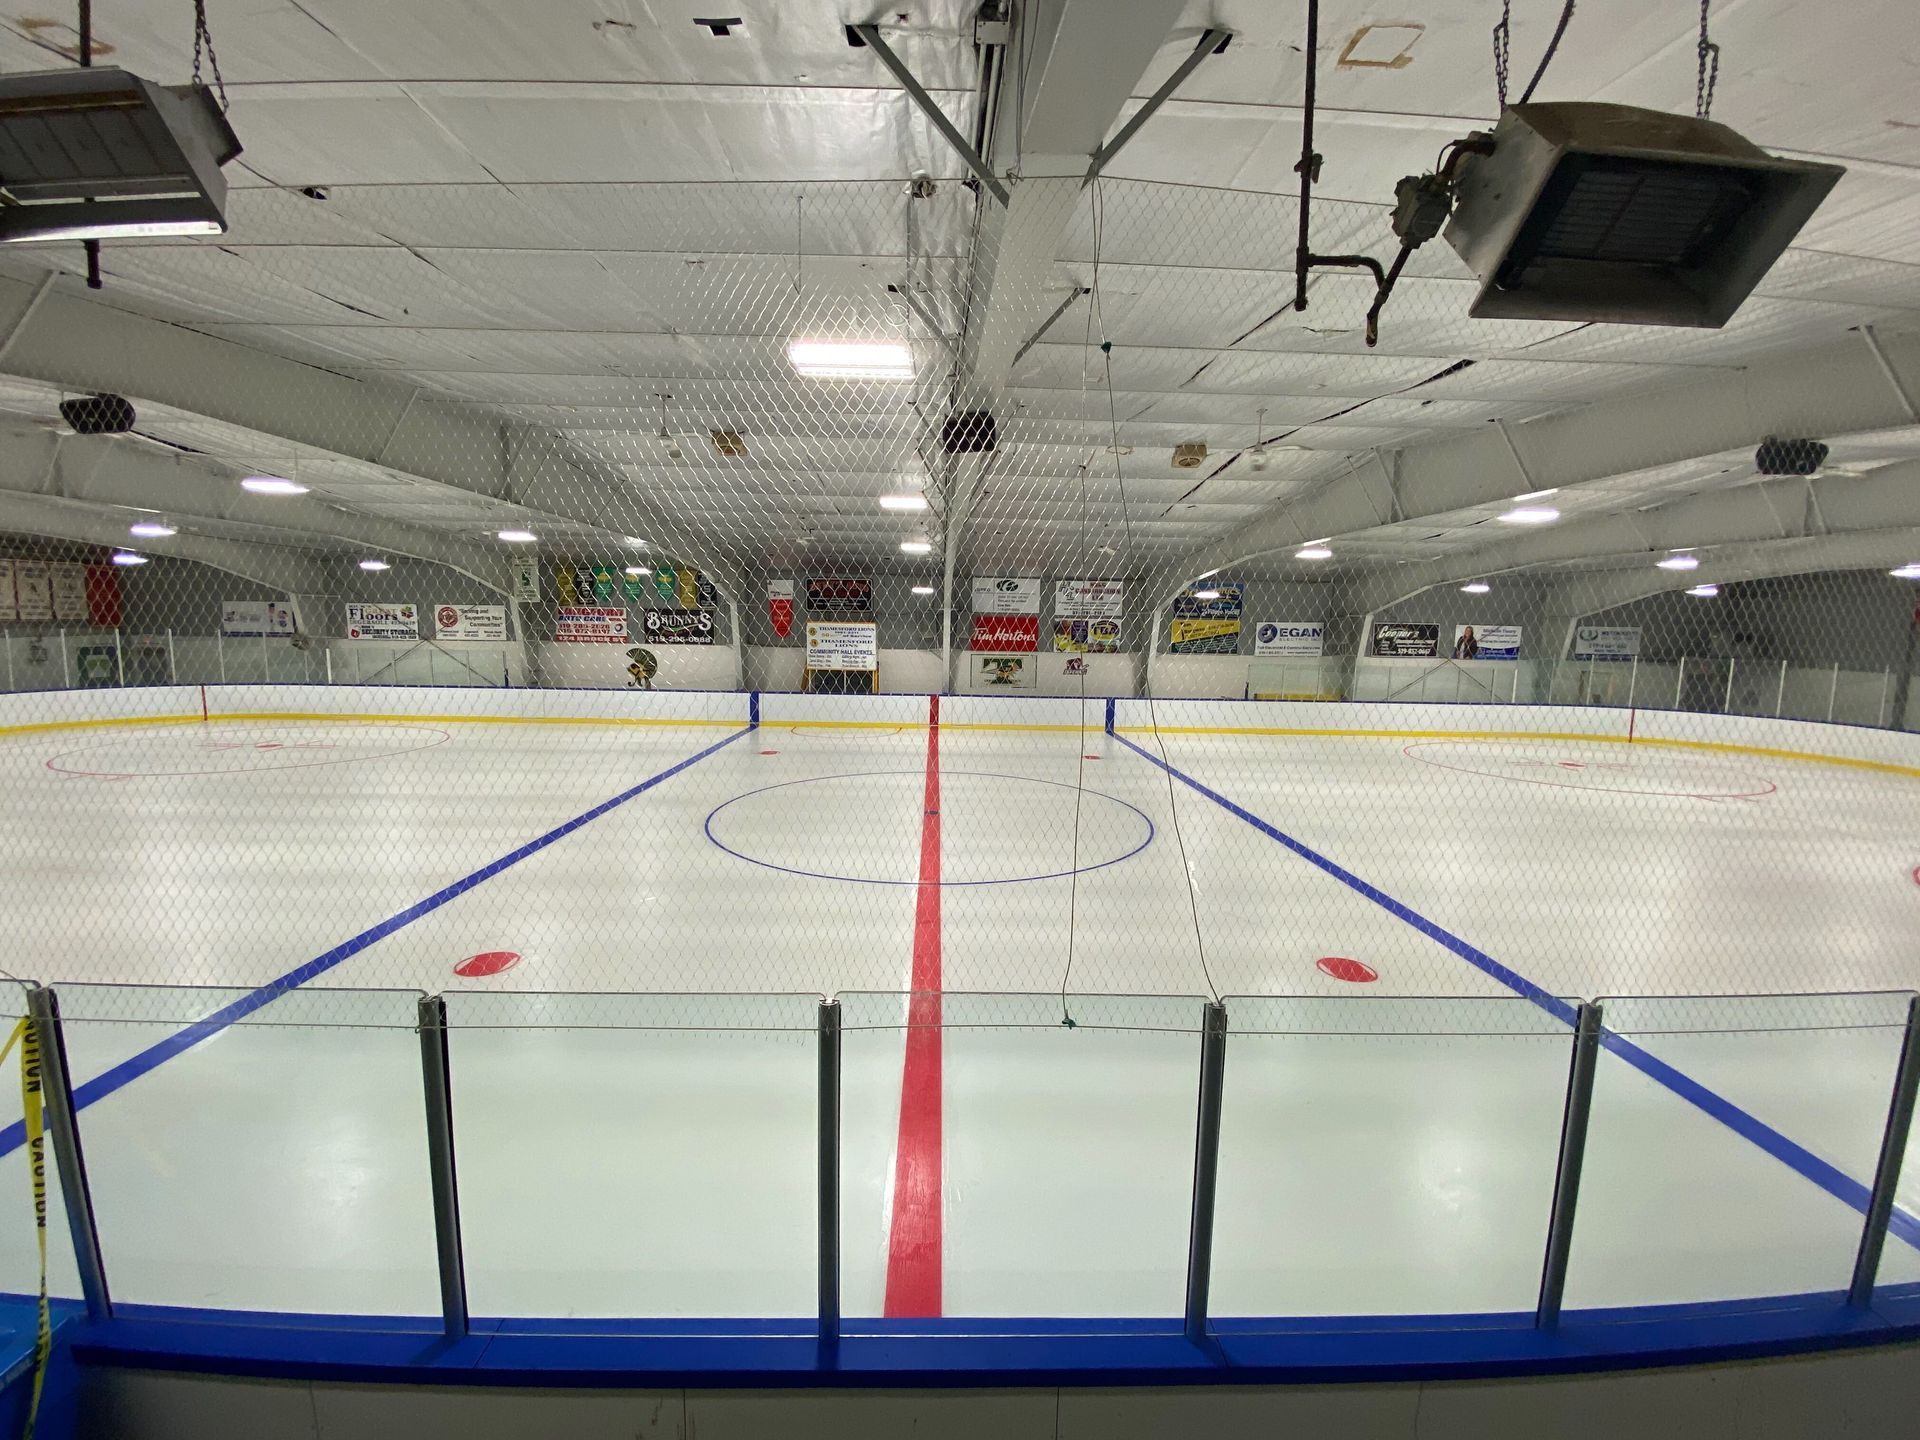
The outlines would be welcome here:
<svg viewBox="0 0 1920 1440">
<path fill-rule="evenodd" d="M 1839 165 L 1638 106 L 1509 106 L 1463 146 L 1448 244 L 1476 319 L 1726 324 Z"/>
</svg>

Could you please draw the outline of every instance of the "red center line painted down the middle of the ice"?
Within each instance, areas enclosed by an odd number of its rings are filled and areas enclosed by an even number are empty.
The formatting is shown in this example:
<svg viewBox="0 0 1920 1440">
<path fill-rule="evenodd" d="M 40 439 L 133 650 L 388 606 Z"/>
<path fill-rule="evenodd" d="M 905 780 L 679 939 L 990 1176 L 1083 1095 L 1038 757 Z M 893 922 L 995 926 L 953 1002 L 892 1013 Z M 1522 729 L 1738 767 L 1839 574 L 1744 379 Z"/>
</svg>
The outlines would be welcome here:
<svg viewBox="0 0 1920 1440">
<path fill-rule="evenodd" d="M 941 699 L 927 697 L 927 789 L 914 900 L 914 979 L 893 1150 L 889 1317 L 941 1313 Z"/>
</svg>

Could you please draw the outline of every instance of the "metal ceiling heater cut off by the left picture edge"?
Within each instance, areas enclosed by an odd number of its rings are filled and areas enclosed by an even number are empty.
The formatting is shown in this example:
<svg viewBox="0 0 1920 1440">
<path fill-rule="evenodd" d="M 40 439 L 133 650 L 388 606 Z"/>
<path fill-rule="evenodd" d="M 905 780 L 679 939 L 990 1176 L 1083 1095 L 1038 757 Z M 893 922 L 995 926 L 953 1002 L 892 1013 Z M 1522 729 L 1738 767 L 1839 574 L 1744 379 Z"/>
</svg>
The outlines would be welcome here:
<svg viewBox="0 0 1920 1440">
<path fill-rule="evenodd" d="M 221 234 L 240 140 L 204 86 L 58 69 L 0 77 L 0 240 Z"/>
</svg>

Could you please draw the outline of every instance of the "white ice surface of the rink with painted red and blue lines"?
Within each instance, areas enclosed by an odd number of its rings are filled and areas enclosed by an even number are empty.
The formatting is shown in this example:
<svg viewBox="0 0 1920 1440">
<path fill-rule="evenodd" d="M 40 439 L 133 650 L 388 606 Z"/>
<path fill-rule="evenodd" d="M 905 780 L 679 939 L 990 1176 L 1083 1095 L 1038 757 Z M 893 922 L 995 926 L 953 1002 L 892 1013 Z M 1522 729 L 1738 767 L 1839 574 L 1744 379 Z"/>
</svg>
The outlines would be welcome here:
<svg viewBox="0 0 1920 1440">
<path fill-rule="evenodd" d="M 478 1315 L 812 1313 L 831 995 L 849 1315 L 1179 1313 L 1215 996 L 1217 1315 L 1528 1309 L 1578 998 L 1613 1039 L 1567 1304 L 1845 1284 L 1920 778 L 1198 708 L 0 739 L 6 968 L 60 985 L 115 1298 L 436 1313 L 419 991 Z M 1908 1213 L 1882 1279 L 1920 1281 Z"/>
</svg>

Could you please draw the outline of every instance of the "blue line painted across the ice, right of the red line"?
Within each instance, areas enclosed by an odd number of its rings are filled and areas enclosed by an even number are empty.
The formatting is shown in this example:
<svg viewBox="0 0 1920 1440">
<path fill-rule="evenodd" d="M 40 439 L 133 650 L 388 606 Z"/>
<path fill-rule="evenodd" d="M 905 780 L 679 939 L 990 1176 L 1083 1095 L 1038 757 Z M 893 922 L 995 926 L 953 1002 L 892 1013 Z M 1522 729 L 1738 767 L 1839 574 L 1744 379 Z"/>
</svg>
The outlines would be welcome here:
<svg viewBox="0 0 1920 1440">
<path fill-rule="evenodd" d="M 1359 876 L 1356 876 L 1352 870 L 1346 870 L 1344 866 L 1336 864 L 1334 860 L 1329 860 L 1325 854 L 1321 854 L 1319 851 L 1311 849 L 1309 845 L 1304 845 L 1302 841 L 1294 839 L 1292 835 L 1284 833 L 1283 829 L 1267 824 L 1258 814 L 1254 814 L 1252 810 L 1248 810 L 1244 804 L 1229 801 L 1217 789 L 1212 789 L 1210 785 L 1194 780 L 1185 770 L 1179 770 L 1177 766 L 1162 760 L 1152 751 L 1142 749 L 1140 745 L 1135 745 L 1125 735 L 1114 735 L 1114 739 L 1117 739 L 1121 745 L 1125 745 L 1129 751 L 1133 751 L 1135 755 L 1139 755 L 1148 764 L 1154 764 L 1154 766 L 1165 770 L 1169 776 L 1173 776 L 1175 780 L 1179 780 L 1188 789 L 1194 789 L 1200 795 L 1204 795 L 1206 799 L 1213 801 L 1213 804 L 1221 806 L 1229 814 L 1244 820 L 1246 824 L 1250 824 L 1254 829 L 1258 829 L 1267 839 L 1279 841 L 1281 845 L 1284 845 L 1288 851 L 1292 851 L 1294 854 L 1298 854 L 1308 864 L 1315 866 L 1317 870 L 1323 870 L 1325 874 L 1332 876 L 1334 879 L 1338 879 L 1348 889 L 1357 891 L 1365 899 L 1373 900 L 1377 906 L 1380 906 L 1382 910 L 1386 910 L 1396 920 L 1402 920 L 1407 925 L 1413 925 L 1413 929 L 1421 931 L 1423 935 L 1427 935 L 1436 945 L 1452 950 L 1461 960 L 1465 960 L 1467 964 L 1471 964 L 1475 970 L 1480 970 L 1482 973 L 1486 973 L 1492 979 L 1500 981 L 1501 985 L 1505 985 L 1515 995 L 1526 996 L 1528 1000 L 1532 1000 L 1534 1004 L 1538 1004 L 1542 1010 L 1546 1010 L 1555 1020 L 1559 1020 L 1559 1021 L 1563 1021 L 1567 1025 L 1574 1023 L 1574 1014 L 1576 1012 L 1574 1012 L 1574 1008 L 1571 1004 L 1567 1004 L 1565 1000 L 1561 1000 L 1557 995 L 1549 995 L 1540 985 L 1534 985 L 1534 981 L 1526 979 L 1519 972 L 1509 970 L 1507 966 L 1500 964 L 1486 950 L 1480 950 L 1478 947 L 1463 941 L 1459 935 L 1453 935 L 1452 931 L 1442 929 L 1432 920 L 1428 920 L 1427 916 L 1419 914 L 1411 906 L 1402 904 L 1400 900 L 1396 900 L 1392 895 L 1388 895 L 1380 887 L 1367 883 L 1365 879 L 1361 879 Z M 1822 1190 L 1826 1190 L 1828 1194 L 1832 1194 L 1841 1204 L 1851 1206 L 1860 1215 L 1866 1213 L 1866 1204 L 1868 1204 L 1868 1196 L 1870 1196 L 1868 1187 L 1862 1185 L 1860 1181 L 1853 1179 L 1845 1171 L 1841 1171 L 1837 1165 L 1832 1165 L 1830 1162 L 1826 1162 L 1820 1156 L 1812 1154 L 1803 1144 L 1797 1144 L 1795 1140 L 1789 1140 L 1786 1135 L 1782 1135 L 1780 1131 L 1776 1131 L 1772 1125 L 1768 1125 L 1763 1119 L 1759 1119 L 1757 1116 L 1751 1116 L 1749 1112 L 1741 1110 L 1740 1106 L 1736 1106 L 1732 1100 L 1728 1100 L 1726 1096 L 1718 1094 L 1716 1091 L 1709 1091 L 1699 1081 L 1684 1075 L 1682 1071 L 1674 1069 L 1665 1060 L 1659 1060 L 1657 1056 L 1653 1056 L 1647 1050 L 1640 1048 L 1632 1041 L 1628 1041 L 1628 1039 L 1624 1039 L 1620 1035 L 1615 1035 L 1613 1031 L 1605 1031 L 1603 1029 L 1601 1031 L 1601 1044 L 1607 1050 L 1611 1050 L 1613 1054 L 1617 1054 L 1620 1060 L 1624 1060 L 1626 1064 L 1630 1064 L 1634 1069 L 1638 1069 L 1647 1079 L 1651 1079 L 1651 1081 L 1655 1081 L 1659 1085 L 1665 1085 L 1668 1091 L 1672 1091 L 1674 1094 L 1678 1094 L 1682 1100 L 1686 1100 L 1688 1104 L 1699 1108 L 1703 1114 L 1713 1116 L 1715 1119 L 1718 1119 L 1722 1125 L 1726 1125 L 1730 1131 L 1734 1131 L 1741 1139 L 1747 1139 L 1753 1144 L 1761 1146 L 1761 1150 L 1764 1150 L 1766 1154 L 1770 1154 L 1774 1160 L 1782 1162 L 1789 1169 L 1797 1171 L 1805 1179 L 1812 1181 L 1814 1185 L 1818 1185 Z M 1891 1235 L 1897 1235 L 1907 1244 L 1910 1244 L 1914 1248 L 1920 1248 L 1920 1219 L 1916 1219 L 1914 1215 L 1907 1213 L 1905 1210 L 1899 1210 L 1895 1206 L 1893 1219 L 1889 1221 L 1887 1229 L 1889 1229 Z"/>
</svg>

